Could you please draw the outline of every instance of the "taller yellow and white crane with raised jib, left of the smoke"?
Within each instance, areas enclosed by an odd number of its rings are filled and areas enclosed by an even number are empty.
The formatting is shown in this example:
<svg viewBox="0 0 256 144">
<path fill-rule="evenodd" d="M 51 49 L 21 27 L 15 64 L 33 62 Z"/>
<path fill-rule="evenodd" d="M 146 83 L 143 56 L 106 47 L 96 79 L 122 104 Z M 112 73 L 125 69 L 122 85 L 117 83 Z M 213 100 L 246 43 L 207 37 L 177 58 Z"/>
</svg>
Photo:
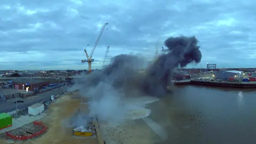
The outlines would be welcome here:
<svg viewBox="0 0 256 144">
<path fill-rule="evenodd" d="M 92 72 L 92 62 L 94 62 L 94 59 L 92 59 L 92 55 L 95 51 L 95 48 L 97 47 L 98 43 L 99 43 L 99 40 L 100 40 L 100 37 L 105 29 L 105 27 L 108 25 L 108 23 L 104 23 L 104 25 L 102 26 L 102 28 L 100 29 L 100 33 L 99 33 L 99 36 L 97 37 L 96 39 L 96 42 L 92 48 L 92 52 L 90 54 L 90 56 L 88 55 L 86 49 L 84 49 L 84 52 L 85 52 L 85 55 L 86 55 L 86 59 L 85 60 L 82 60 L 82 63 L 85 63 L 85 62 L 88 62 L 88 74 L 90 74 Z M 87 45 L 87 47 L 89 46 L 89 44 Z"/>
</svg>

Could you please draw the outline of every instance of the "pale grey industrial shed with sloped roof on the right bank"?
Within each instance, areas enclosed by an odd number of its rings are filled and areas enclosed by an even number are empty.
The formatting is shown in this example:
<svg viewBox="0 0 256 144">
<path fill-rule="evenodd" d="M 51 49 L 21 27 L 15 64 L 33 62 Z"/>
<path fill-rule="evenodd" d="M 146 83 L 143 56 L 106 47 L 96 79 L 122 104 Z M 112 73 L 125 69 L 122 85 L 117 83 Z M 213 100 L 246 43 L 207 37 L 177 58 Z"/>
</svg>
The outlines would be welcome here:
<svg viewBox="0 0 256 144">
<path fill-rule="evenodd" d="M 218 73 L 214 73 L 215 79 L 228 80 L 232 78 L 232 79 L 235 79 L 236 81 L 243 81 L 243 76 L 244 76 L 244 71 L 238 71 L 238 70 L 218 71 Z"/>
</svg>

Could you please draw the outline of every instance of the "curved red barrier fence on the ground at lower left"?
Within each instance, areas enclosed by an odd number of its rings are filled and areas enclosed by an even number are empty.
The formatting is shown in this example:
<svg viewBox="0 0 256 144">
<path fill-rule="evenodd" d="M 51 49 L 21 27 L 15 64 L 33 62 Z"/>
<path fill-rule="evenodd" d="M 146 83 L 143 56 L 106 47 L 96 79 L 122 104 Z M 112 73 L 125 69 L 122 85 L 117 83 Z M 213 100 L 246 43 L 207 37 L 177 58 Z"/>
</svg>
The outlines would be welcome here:
<svg viewBox="0 0 256 144">
<path fill-rule="evenodd" d="M 34 137 L 38 137 L 39 135 L 41 135 L 42 133 L 44 133 L 46 130 L 47 130 L 47 126 L 45 126 L 43 124 L 43 122 L 34 122 L 34 125 L 39 125 L 39 126 L 42 126 L 43 129 L 38 131 L 38 132 L 35 132 L 35 133 L 32 133 L 32 134 L 28 134 L 28 135 L 25 135 L 25 136 L 17 136 L 17 135 L 12 135 L 11 133 L 9 132 L 5 132 L 6 134 L 6 138 L 9 137 L 11 139 L 14 139 L 14 140 L 28 140 L 28 139 L 32 139 Z"/>
</svg>

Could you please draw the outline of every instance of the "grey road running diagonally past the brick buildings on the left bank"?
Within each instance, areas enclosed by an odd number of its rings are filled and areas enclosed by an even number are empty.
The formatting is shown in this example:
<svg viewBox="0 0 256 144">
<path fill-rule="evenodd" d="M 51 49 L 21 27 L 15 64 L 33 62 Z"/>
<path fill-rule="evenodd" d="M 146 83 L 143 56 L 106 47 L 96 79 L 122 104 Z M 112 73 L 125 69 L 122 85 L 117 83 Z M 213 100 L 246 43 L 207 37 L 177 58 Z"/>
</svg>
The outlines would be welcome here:
<svg viewBox="0 0 256 144">
<path fill-rule="evenodd" d="M 17 108 L 18 109 L 25 109 L 25 108 L 33 105 L 34 103 L 38 103 L 38 102 L 41 103 L 45 100 L 49 100 L 49 99 L 51 99 L 51 95 L 53 95 L 53 94 L 57 95 L 57 94 L 63 93 L 63 92 L 66 91 L 66 89 L 67 89 L 67 87 L 64 86 L 64 87 L 60 87 L 60 89 L 55 89 L 55 90 L 51 90 L 51 91 L 48 91 L 48 92 L 38 94 L 34 98 L 25 98 L 25 99 L 23 99 L 24 102 L 17 103 Z M 12 102 L 10 102 L 10 101 L 7 100 L 6 103 L 1 103 L 0 104 L 0 113 L 9 113 L 9 112 L 14 111 L 16 109 L 16 105 L 13 102 L 13 100 L 12 100 Z"/>
</svg>

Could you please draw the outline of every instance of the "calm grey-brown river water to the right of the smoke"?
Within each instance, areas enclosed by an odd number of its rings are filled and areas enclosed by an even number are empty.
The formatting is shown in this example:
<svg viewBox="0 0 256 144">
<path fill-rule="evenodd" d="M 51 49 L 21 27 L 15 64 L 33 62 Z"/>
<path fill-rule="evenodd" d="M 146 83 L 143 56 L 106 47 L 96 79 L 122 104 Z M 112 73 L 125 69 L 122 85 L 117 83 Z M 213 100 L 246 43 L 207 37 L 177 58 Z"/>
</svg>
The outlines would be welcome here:
<svg viewBox="0 0 256 144">
<path fill-rule="evenodd" d="M 179 86 L 149 107 L 168 134 L 159 144 L 256 143 L 256 91 Z"/>
</svg>

